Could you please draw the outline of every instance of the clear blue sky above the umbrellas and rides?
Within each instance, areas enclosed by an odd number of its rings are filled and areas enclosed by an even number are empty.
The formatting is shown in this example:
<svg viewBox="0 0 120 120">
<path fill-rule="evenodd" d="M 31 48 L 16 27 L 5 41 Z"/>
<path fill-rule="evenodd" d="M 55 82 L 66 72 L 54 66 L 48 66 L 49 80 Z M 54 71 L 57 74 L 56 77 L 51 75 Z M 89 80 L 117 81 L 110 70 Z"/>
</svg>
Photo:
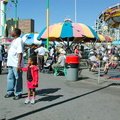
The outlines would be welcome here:
<svg viewBox="0 0 120 120">
<path fill-rule="evenodd" d="M 10 1 L 10 0 L 9 0 Z M 34 19 L 35 32 L 46 27 L 47 0 L 18 0 L 19 19 Z M 49 0 L 50 24 L 63 22 L 69 18 L 75 21 L 75 0 Z M 76 22 L 93 27 L 95 20 L 109 6 L 120 3 L 120 0 L 76 0 Z M 7 4 L 7 18 L 14 18 L 14 4 Z"/>
</svg>

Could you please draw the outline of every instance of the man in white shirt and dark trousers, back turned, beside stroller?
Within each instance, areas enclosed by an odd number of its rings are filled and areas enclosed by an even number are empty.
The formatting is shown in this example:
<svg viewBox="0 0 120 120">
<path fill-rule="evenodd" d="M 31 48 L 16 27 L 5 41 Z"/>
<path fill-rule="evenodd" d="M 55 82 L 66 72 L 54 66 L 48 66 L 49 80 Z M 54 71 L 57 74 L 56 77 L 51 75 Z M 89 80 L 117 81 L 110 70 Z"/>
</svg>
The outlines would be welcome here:
<svg viewBox="0 0 120 120">
<path fill-rule="evenodd" d="M 44 66 L 44 56 L 46 53 L 49 53 L 49 51 L 44 47 L 44 44 L 41 44 L 39 48 L 35 50 L 38 55 L 38 67 L 39 71 L 41 72 Z"/>
</svg>

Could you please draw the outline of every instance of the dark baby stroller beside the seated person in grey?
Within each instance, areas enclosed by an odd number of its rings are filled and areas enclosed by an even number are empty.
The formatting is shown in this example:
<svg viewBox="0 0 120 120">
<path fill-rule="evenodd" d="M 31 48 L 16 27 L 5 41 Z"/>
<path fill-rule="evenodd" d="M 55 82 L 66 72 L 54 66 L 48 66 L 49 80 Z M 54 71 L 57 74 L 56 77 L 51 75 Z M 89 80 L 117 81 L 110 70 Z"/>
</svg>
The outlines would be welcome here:
<svg viewBox="0 0 120 120">
<path fill-rule="evenodd" d="M 52 73 L 53 57 L 48 57 L 44 63 L 42 73 Z"/>
</svg>

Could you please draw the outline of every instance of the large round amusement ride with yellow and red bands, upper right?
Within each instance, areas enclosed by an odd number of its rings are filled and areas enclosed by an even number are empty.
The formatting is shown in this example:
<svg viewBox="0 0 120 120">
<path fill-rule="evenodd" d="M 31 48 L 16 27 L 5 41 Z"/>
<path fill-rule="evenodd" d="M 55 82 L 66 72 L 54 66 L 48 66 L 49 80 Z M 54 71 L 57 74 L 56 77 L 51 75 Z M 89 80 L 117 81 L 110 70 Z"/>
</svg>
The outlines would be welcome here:
<svg viewBox="0 0 120 120">
<path fill-rule="evenodd" d="M 120 40 L 120 3 L 103 11 L 96 20 L 95 30 L 98 34 L 109 35 Z"/>
</svg>

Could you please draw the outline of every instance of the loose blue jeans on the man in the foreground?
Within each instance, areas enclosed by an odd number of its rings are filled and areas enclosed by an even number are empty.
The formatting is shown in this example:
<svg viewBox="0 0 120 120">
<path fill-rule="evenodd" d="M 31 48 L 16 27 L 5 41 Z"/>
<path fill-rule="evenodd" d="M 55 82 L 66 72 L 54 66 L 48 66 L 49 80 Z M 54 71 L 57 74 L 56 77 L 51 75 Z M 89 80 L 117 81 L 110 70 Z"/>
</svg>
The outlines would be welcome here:
<svg viewBox="0 0 120 120">
<path fill-rule="evenodd" d="M 7 76 L 7 94 L 14 93 L 15 95 L 22 94 L 23 80 L 22 71 L 17 70 L 16 67 L 10 66 L 8 68 Z"/>
</svg>

